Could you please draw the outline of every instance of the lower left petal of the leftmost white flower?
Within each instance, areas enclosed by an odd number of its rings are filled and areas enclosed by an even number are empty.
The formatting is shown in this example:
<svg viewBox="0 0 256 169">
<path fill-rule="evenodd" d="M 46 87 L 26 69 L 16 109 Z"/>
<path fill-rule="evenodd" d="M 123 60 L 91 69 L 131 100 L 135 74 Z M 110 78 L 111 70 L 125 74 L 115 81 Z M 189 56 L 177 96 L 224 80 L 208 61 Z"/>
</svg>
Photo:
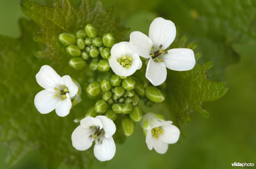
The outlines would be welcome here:
<svg viewBox="0 0 256 169">
<path fill-rule="evenodd" d="M 36 109 L 42 114 L 50 113 L 52 110 L 54 110 L 60 100 L 60 98 L 53 97 L 55 94 L 56 91 L 51 92 L 48 90 L 42 90 L 37 93 L 34 100 Z"/>
</svg>

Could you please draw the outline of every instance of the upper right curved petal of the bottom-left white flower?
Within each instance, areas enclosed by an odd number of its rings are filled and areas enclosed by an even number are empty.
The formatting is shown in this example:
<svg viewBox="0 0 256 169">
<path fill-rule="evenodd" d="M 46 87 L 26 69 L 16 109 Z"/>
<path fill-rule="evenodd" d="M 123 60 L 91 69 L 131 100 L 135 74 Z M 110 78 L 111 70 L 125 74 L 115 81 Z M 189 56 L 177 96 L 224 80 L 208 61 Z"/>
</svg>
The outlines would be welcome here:
<svg viewBox="0 0 256 169">
<path fill-rule="evenodd" d="M 95 118 L 100 119 L 102 123 L 102 127 L 105 131 L 105 137 L 110 138 L 116 132 L 116 125 L 115 123 L 106 116 L 96 116 Z"/>
</svg>

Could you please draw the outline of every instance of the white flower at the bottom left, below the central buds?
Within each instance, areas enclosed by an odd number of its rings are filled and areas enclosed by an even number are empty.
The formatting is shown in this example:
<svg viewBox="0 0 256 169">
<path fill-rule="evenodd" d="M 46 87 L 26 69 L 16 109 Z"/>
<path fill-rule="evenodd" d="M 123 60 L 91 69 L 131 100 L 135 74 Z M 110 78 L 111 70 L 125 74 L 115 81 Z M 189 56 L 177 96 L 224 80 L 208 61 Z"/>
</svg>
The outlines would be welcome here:
<svg viewBox="0 0 256 169">
<path fill-rule="evenodd" d="M 87 150 L 95 140 L 94 156 L 100 161 L 114 157 L 116 145 L 113 134 L 116 132 L 114 122 L 106 116 L 85 117 L 73 131 L 71 139 L 77 150 Z"/>
</svg>

